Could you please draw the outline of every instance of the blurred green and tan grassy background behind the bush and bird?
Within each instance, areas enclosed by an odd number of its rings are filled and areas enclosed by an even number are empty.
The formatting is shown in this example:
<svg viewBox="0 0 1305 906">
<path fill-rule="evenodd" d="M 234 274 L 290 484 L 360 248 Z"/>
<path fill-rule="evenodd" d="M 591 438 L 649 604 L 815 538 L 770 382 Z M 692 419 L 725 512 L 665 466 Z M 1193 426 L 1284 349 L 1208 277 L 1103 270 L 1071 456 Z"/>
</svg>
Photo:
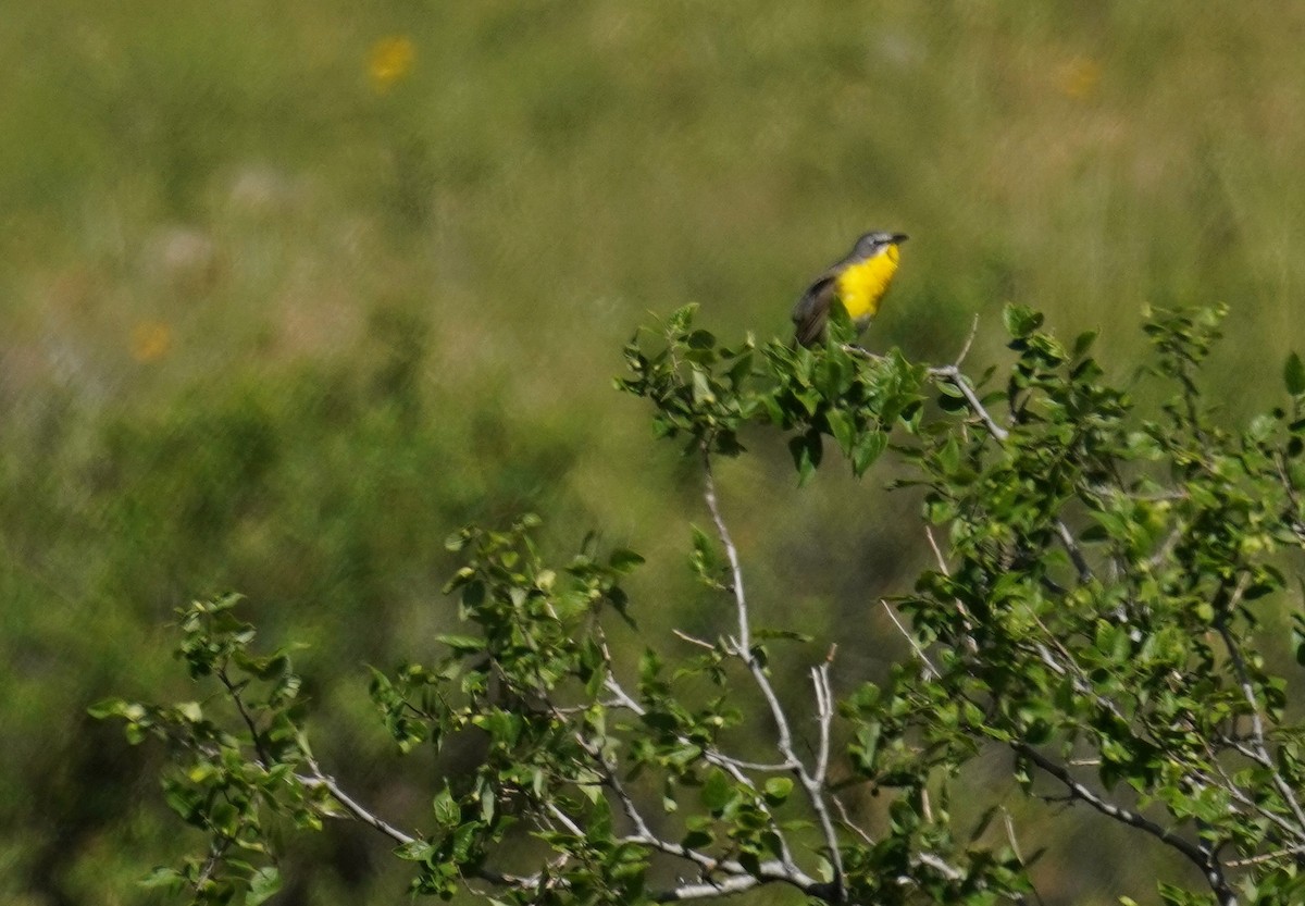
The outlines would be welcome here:
<svg viewBox="0 0 1305 906">
<path fill-rule="evenodd" d="M 902 230 L 872 346 L 949 359 L 979 315 L 977 371 L 1019 302 L 1126 376 L 1143 305 L 1227 302 L 1215 396 L 1263 397 L 1305 338 L 1302 39 L 1302 5 L 1186 0 L 7 4 L 0 899 L 157 899 L 136 879 L 193 842 L 161 753 L 85 708 L 196 695 L 193 597 L 311 644 L 324 761 L 407 826 L 448 766 L 394 756 L 363 664 L 431 654 L 450 530 L 600 529 L 650 559 L 629 649 L 722 628 L 683 559 L 697 473 L 611 389 L 650 311 L 784 334 L 856 234 Z M 881 675 L 914 501 L 887 462 L 797 493 L 756 453 L 722 482 L 757 619 L 840 640 L 843 688 Z M 1101 830 L 1035 825 L 1047 903 L 1155 902 Z M 281 903 L 405 896 L 352 828 L 286 875 Z"/>
</svg>

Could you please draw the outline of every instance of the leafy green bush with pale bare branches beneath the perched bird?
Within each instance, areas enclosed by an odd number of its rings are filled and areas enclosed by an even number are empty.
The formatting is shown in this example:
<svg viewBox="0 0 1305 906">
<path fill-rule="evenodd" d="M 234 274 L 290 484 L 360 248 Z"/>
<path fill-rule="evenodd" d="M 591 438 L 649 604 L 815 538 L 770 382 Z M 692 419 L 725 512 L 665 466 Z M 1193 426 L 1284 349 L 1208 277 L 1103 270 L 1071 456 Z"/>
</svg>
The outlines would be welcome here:
<svg viewBox="0 0 1305 906">
<path fill-rule="evenodd" d="M 133 743 L 167 743 L 164 795 L 204 841 L 149 884 L 257 903 L 278 889 L 286 826 L 351 819 L 412 863 L 415 893 L 445 898 L 638 903 L 783 885 L 830 903 L 1024 902 L 1037 856 L 967 783 L 980 755 L 1006 752 L 1056 820 L 1113 822 L 1138 838 L 1135 859 L 1195 869 L 1160 884 L 1167 903 L 1305 898 L 1301 725 L 1267 666 L 1285 638 L 1266 649 L 1257 634 L 1305 540 L 1298 358 L 1284 403 L 1231 430 L 1197 380 L 1218 311 L 1154 313 L 1130 390 L 1105 380 L 1091 334 L 1066 347 L 1026 308 L 1006 312 L 1000 381 L 971 379 L 964 354 L 941 367 L 872 355 L 846 322 L 821 349 L 726 347 L 693 315 L 637 336 L 617 384 L 701 463 L 711 527 L 693 530 L 689 560 L 732 629 L 677 632 L 689 657 L 645 640 L 625 663 L 607 632 L 638 617 L 622 580 L 639 555 L 590 540 L 552 564 L 534 517 L 455 534 L 465 565 L 446 590 L 466 634 L 371 684 L 401 749 L 479 756 L 408 833 L 313 757 L 290 648 L 256 654 L 235 597 L 197 602 L 179 655 L 219 696 L 93 709 Z M 1137 402 L 1147 394 L 1158 402 Z M 745 430 L 787 437 L 800 482 L 831 450 L 857 475 L 891 454 L 898 484 L 923 493 L 936 563 L 885 604 L 911 653 L 886 681 L 839 700 L 837 646 L 752 625 L 746 552 L 714 479 L 720 457 L 746 453 Z M 1305 663 L 1298 614 L 1289 638 Z M 776 688 L 782 657 L 809 664 L 800 715 Z M 962 829 L 960 812 L 979 820 Z"/>
</svg>

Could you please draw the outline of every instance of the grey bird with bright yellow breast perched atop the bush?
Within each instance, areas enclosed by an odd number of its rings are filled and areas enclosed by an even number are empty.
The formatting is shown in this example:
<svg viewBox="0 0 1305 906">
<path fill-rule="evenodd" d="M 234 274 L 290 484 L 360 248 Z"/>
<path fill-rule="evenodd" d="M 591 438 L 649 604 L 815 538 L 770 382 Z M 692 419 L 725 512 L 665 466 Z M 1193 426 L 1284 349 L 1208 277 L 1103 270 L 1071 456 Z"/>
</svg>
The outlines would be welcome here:
<svg viewBox="0 0 1305 906">
<path fill-rule="evenodd" d="M 900 256 L 898 247 L 906 240 L 904 232 L 867 232 L 846 258 L 817 277 L 793 305 L 797 342 L 814 346 L 825 339 L 829 307 L 835 299 L 843 303 L 856 333 L 865 330 L 889 291 Z"/>
</svg>

